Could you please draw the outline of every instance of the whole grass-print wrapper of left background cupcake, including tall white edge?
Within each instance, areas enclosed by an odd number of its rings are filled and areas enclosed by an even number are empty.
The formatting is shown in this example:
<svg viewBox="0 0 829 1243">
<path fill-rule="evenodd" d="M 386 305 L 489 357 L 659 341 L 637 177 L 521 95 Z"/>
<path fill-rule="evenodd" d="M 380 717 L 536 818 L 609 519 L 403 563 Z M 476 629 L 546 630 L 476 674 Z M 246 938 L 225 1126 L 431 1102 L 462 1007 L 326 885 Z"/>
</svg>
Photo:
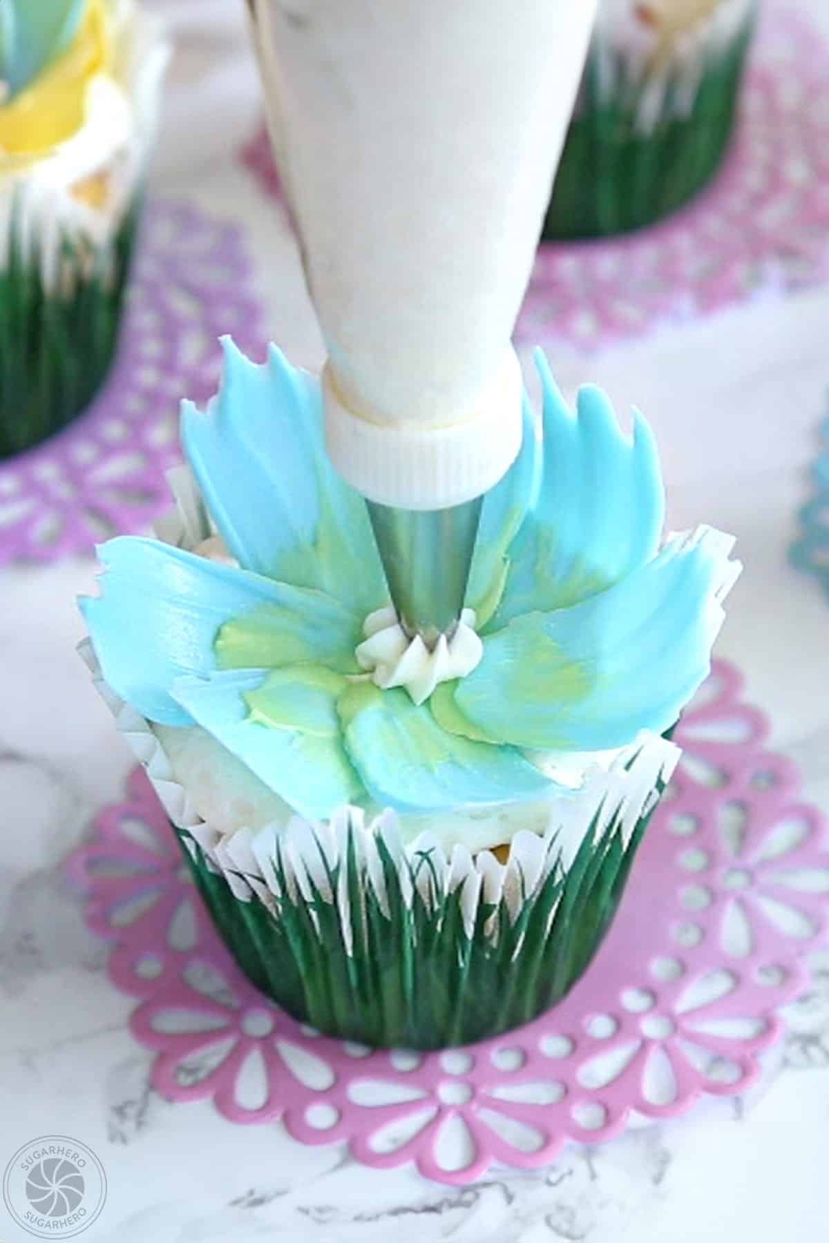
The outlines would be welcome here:
<svg viewBox="0 0 829 1243">
<path fill-rule="evenodd" d="M 40 165 L 0 189 L 0 460 L 81 414 L 114 355 L 169 55 L 158 22 L 140 14 L 124 42 L 134 133 L 96 173 L 107 179 L 106 209 L 51 184 Z"/>
</svg>

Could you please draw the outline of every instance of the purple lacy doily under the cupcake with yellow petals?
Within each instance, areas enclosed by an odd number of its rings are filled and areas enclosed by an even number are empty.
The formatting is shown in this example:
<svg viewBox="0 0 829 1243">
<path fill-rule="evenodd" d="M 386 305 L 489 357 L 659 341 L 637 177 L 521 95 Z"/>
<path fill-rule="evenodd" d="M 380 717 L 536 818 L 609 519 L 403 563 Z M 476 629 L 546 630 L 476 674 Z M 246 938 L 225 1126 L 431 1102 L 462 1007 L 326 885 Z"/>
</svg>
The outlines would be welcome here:
<svg viewBox="0 0 829 1243">
<path fill-rule="evenodd" d="M 206 401 L 229 332 L 261 352 L 240 231 L 184 203 L 147 206 L 118 352 L 89 409 L 0 461 L 0 566 L 88 552 L 169 507 L 183 397 Z"/>
</svg>

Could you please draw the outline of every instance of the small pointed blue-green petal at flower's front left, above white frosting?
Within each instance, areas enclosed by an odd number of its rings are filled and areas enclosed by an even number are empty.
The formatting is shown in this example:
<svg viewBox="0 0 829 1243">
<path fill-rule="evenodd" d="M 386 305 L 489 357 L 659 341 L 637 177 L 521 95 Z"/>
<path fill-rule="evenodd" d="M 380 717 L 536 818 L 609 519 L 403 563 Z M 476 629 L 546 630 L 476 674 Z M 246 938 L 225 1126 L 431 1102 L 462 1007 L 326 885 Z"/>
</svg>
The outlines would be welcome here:
<svg viewBox="0 0 829 1243">
<path fill-rule="evenodd" d="M 321 819 L 363 793 L 334 709 L 344 684 L 318 666 L 229 670 L 180 677 L 173 694 L 193 721 L 300 815 Z"/>
</svg>

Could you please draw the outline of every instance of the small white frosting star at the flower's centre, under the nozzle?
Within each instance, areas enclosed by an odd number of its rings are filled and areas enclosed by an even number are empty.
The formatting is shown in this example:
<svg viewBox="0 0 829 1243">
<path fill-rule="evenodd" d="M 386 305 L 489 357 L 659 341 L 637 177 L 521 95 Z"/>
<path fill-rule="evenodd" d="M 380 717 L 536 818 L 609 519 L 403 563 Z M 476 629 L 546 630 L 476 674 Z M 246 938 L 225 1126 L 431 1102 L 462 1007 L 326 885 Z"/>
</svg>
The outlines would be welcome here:
<svg viewBox="0 0 829 1243">
<path fill-rule="evenodd" d="M 354 653 L 360 669 L 382 690 L 403 686 L 415 704 L 425 702 L 440 682 L 466 677 L 483 655 L 474 609 L 464 609 L 451 639 L 441 634 L 431 651 L 420 635 L 409 638 L 390 605 L 369 613 L 363 634 L 365 641 Z"/>
</svg>

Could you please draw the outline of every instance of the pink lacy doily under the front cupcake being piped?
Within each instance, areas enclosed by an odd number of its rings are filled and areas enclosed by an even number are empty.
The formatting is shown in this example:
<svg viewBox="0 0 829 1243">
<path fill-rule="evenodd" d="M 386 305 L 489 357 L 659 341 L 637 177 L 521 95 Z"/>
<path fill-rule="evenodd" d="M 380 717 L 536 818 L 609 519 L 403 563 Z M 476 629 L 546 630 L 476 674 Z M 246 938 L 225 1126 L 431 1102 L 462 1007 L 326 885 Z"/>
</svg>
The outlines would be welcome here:
<svg viewBox="0 0 829 1243">
<path fill-rule="evenodd" d="M 677 731 L 685 757 L 613 929 L 569 996 L 526 1027 L 445 1053 L 370 1052 L 314 1034 L 236 970 L 195 897 L 140 769 L 70 860 L 109 973 L 133 994 L 152 1084 L 211 1098 L 231 1122 L 281 1119 L 302 1144 L 347 1141 L 369 1166 L 416 1161 L 466 1183 L 534 1167 L 633 1114 L 670 1117 L 744 1093 L 805 983 L 829 920 L 819 813 L 717 663 Z M 263 1136 L 262 1142 L 267 1142 Z"/>
</svg>

